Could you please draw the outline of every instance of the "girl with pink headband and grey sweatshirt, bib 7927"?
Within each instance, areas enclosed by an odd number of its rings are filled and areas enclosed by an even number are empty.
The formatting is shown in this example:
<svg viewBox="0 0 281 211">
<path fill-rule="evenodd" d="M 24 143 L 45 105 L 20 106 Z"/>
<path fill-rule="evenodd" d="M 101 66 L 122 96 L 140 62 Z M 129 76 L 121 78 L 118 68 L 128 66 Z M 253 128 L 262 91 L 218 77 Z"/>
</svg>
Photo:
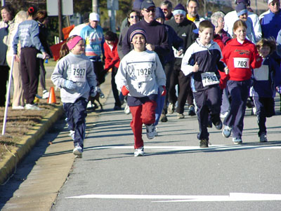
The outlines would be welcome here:
<svg viewBox="0 0 281 211">
<path fill-rule="evenodd" d="M 91 60 L 84 55 L 84 45 L 81 36 L 70 36 L 60 49 L 60 60 L 51 75 L 53 84 L 60 88 L 68 128 L 74 131 L 73 154 L 78 158 L 84 147 L 89 95 L 96 95 L 96 74 Z"/>
</svg>

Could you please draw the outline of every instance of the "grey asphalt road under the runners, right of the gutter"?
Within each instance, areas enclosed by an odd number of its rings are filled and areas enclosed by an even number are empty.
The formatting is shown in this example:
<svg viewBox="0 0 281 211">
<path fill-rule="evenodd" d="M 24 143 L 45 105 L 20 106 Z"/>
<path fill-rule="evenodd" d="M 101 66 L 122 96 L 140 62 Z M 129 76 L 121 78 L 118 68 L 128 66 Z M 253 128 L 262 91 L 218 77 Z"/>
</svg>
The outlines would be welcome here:
<svg viewBox="0 0 281 211">
<path fill-rule="evenodd" d="M 279 100 L 279 97 L 278 97 Z M 279 105 L 279 103 L 277 103 Z M 260 143 L 256 116 L 244 118 L 243 142 L 209 130 L 200 149 L 197 118 L 168 116 L 145 156 L 133 156 L 131 115 L 112 111 L 113 97 L 85 140 L 51 210 L 280 210 L 280 112 L 268 118 L 268 143 Z M 186 114 L 186 112 L 185 112 Z"/>
</svg>

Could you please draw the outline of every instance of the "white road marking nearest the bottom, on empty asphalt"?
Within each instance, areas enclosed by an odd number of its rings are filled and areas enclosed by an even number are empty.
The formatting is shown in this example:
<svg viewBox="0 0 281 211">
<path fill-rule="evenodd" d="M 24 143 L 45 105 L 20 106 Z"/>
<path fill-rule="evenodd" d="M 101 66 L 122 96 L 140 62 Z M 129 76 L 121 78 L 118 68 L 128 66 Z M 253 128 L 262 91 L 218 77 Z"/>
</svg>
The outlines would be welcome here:
<svg viewBox="0 0 281 211">
<path fill-rule="evenodd" d="M 229 193 L 229 196 L 89 194 L 65 198 L 151 199 L 152 202 L 281 200 L 281 194 Z M 156 201 L 155 201 L 156 200 Z"/>
</svg>

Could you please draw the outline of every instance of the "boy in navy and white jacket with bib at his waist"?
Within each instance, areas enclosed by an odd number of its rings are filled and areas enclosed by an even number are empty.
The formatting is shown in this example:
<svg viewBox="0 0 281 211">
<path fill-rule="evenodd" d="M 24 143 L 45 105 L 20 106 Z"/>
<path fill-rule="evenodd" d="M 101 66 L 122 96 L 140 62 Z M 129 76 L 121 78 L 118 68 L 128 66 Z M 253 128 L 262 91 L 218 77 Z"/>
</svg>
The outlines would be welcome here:
<svg viewBox="0 0 281 211">
<path fill-rule="evenodd" d="M 181 71 L 185 76 L 191 74 L 191 87 L 197 105 L 197 118 L 200 132 L 200 147 L 209 147 L 207 130 L 208 116 L 216 129 L 221 130 L 221 91 L 219 88 L 221 72 L 228 73 L 227 67 L 221 62 L 221 48 L 213 39 L 214 26 L 208 20 L 200 22 L 199 38 L 186 50 L 181 63 Z"/>
</svg>

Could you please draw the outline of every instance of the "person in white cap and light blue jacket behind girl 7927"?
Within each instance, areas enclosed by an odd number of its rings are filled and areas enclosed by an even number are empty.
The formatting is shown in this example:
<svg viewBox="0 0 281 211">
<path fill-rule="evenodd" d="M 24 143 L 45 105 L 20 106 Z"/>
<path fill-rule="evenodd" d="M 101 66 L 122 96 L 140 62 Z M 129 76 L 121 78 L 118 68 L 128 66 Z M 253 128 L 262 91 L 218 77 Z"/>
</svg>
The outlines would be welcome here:
<svg viewBox="0 0 281 211">
<path fill-rule="evenodd" d="M 98 13 L 90 13 L 90 24 L 81 29 L 80 36 L 85 40 L 85 55 L 93 62 L 93 69 L 96 73 L 98 85 L 105 82 L 105 72 L 103 69 L 102 56 L 104 57 L 103 29 L 98 25 L 100 15 Z"/>
</svg>

